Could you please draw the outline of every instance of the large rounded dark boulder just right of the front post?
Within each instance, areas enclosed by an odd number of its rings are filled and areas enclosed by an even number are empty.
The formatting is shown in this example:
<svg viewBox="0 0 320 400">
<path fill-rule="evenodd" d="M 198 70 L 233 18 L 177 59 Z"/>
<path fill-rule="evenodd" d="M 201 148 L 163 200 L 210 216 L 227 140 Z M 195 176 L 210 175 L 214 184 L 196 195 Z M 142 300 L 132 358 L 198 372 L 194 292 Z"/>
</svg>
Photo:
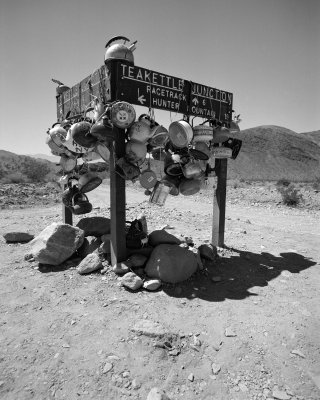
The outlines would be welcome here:
<svg viewBox="0 0 320 400">
<path fill-rule="evenodd" d="M 145 268 L 150 278 L 168 283 L 183 282 L 196 270 L 196 256 L 176 244 L 160 244 L 155 247 Z"/>
</svg>

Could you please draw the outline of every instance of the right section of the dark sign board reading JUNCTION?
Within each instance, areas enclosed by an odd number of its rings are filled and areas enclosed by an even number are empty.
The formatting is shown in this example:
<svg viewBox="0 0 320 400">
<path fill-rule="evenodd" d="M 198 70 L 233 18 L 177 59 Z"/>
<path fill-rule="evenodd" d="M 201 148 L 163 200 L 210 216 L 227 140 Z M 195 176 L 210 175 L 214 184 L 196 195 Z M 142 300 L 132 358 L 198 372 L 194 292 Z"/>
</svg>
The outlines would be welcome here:
<svg viewBox="0 0 320 400">
<path fill-rule="evenodd" d="M 191 82 L 190 115 L 230 122 L 232 93 Z"/>
</svg>

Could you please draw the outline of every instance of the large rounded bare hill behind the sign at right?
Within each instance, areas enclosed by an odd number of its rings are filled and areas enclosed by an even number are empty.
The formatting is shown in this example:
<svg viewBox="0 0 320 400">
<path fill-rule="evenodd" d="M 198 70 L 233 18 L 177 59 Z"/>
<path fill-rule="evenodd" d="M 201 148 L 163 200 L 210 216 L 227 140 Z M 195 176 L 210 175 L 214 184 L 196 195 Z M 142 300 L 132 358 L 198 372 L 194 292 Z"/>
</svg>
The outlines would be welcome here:
<svg viewBox="0 0 320 400">
<path fill-rule="evenodd" d="M 234 137 L 243 141 L 242 148 L 236 160 L 228 161 L 229 178 L 315 180 L 320 177 L 320 146 L 310 136 L 275 125 L 240 131 Z"/>
</svg>

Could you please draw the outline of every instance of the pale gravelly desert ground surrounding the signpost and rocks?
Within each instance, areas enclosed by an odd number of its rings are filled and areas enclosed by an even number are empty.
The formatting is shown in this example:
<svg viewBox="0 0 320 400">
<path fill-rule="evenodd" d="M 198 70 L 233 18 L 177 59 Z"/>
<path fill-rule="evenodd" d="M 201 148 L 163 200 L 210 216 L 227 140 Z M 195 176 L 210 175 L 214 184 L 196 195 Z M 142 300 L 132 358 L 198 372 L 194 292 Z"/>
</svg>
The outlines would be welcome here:
<svg viewBox="0 0 320 400">
<path fill-rule="evenodd" d="M 144 213 L 150 232 L 210 243 L 210 185 L 164 207 L 128 185 L 127 219 Z M 301 187 L 304 203 L 292 208 L 271 183 L 229 183 L 216 261 L 180 284 L 130 292 L 108 267 L 79 275 L 76 259 L 26 261 L 28 244 L 3 234 L 61 223 L 61 204 L 53 188 L 9 189 L 0 193 L 1 399 L 145 400 L 154 387 L 171 400 L 320 398 L 319 191 Z M 88 197 L 87 216 L 110 216 L 107 183 Z"/>
</svg>

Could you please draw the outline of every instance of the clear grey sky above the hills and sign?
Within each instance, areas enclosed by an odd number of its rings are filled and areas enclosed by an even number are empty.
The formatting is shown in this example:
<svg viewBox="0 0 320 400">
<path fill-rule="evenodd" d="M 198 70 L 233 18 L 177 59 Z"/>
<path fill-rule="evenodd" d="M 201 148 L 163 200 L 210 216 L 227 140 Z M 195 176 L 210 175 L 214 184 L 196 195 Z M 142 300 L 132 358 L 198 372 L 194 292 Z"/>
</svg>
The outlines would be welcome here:
<svg viewBox="0 0 320 400">
<path fill-rule="evenodd" d="M 241 129 L 320 129 L 319 0 L 1 0 L 0 149 L 50 155 L 51 79 L 80 82 L 118 35 L 135 65 L 233 93 Z"/>
</svg>

